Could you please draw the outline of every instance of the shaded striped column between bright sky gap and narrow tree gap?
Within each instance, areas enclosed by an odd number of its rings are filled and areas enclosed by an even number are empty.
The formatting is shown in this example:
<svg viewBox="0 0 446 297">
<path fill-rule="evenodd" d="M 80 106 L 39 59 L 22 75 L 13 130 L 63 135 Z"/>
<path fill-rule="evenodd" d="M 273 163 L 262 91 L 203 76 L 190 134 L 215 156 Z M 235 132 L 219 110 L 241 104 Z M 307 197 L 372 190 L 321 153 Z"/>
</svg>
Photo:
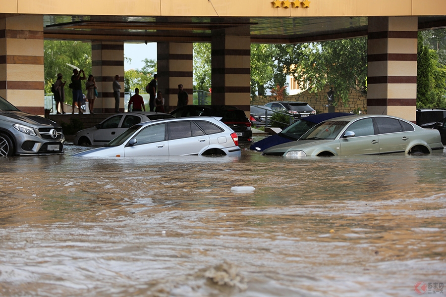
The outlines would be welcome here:
<svg viewBox="0 0 446 297">
<path fill-rule="evenodd" d="M 168 111 L 178 103 L 178 85 L 182 84 L 193 99 L 193 47 L 192 43 L 158 43 L 158 91 L 163 93 Z"/>
</svg>

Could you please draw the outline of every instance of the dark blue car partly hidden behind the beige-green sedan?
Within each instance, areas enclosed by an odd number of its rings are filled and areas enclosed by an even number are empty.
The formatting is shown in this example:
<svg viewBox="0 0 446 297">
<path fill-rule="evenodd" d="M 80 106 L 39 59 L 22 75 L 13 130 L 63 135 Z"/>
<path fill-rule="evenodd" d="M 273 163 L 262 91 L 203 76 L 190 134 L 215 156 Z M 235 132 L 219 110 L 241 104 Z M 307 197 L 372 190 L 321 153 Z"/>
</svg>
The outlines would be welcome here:
<svg viewBox="0 0 446 297">
<path fill-rule="evenodd" d="M 310 130 L 316 124 L 323 122 L 325 120 L 346 116 L 346 115 L 354 115 L 352 113 L 344 113 L 344 112 L 331 112 L 331 113 L 320 113 L 316 115 L 310 115 L 304 118 L 301 118 L 289 125 L 285 129 L 283 129 L 279 134 L 269 136 L 267 138 L 262 139 L 251 145 L 252 150 L 263 151 L 264 149 L 274 147 L 280 144 L 284 144 L 291 141 L 298 140 L 305 132 Z"/>
</svg>

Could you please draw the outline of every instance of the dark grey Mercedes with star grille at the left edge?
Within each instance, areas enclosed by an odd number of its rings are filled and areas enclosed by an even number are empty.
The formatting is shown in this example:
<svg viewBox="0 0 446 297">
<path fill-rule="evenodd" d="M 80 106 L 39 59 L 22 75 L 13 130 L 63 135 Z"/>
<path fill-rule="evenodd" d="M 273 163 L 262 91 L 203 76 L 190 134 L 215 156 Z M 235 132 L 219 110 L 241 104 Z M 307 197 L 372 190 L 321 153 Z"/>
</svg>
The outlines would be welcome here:
<svg viewBox="0 0 446 297">
<path fill-rule="evenodd" d="M 62 127 L 0 97 L 0 156 L 62 154 Z"/>
</svg>

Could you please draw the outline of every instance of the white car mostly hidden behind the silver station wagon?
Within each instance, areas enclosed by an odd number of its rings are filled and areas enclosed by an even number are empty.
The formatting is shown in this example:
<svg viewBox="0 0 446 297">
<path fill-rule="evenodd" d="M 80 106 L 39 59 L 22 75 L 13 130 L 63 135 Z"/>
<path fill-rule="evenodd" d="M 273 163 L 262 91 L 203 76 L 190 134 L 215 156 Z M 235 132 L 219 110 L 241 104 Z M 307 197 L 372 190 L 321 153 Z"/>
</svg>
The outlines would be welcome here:
<svg viewBox="0 0 446 297">
<path fill-rule="evenodd" d="M 173 118 L 173 116 L 168 113 L 152 111 L 113 114 L 94 127 L 78 131 L 74 136 L 73 143 L 76 146 L 104 146 L 135 124 L 167 118 Z"/>
</svg>

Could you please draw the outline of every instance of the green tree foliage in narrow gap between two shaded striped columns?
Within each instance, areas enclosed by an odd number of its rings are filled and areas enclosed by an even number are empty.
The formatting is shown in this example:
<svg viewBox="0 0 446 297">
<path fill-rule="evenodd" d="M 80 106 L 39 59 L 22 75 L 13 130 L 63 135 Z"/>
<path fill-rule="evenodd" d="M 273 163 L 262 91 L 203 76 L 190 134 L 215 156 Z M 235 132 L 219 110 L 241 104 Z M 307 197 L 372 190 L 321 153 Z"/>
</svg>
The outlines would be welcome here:
<svg viewBox="0 0 446 297">
<path fill-rule="evenodd" d="M 210 43 L 193 44 L 194 90 L 208 91 L 211 88 L 211 52 Z"/>
</svg>

